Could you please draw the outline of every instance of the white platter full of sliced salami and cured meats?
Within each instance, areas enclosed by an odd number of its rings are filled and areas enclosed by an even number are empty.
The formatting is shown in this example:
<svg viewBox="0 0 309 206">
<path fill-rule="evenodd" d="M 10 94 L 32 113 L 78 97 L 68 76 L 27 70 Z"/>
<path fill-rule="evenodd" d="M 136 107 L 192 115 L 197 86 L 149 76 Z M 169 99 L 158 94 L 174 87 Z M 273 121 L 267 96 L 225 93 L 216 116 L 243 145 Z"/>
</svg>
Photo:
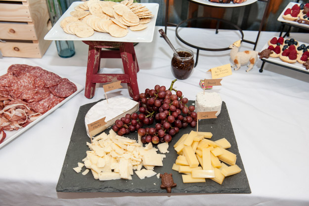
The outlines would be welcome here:
<svg viewBox="0 0 309 206">
<path fill-rule="evenodd" d="M 83 89 L 41 67 L 11 65 L 0 74 L 0 148 Z"/>
</svg>

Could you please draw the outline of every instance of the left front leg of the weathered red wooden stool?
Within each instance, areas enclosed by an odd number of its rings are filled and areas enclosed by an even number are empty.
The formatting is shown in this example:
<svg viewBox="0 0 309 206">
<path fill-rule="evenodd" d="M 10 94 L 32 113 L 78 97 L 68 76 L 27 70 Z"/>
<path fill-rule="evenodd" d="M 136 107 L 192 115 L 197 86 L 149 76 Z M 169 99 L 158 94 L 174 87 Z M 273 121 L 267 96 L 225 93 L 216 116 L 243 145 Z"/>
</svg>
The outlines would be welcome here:
<svg viewBox="0 0 309 206">
<path fill-rule="evenodd" d="M 95 83 L 92 82 L 92 75 L 97 74 L 99 70 L 101 60 L 100 52 L 101 48 L 96 48 L 89 45 L 85 86 L 85 97 L 88 99 L 91 99 L 94 96 Z"/>
</svg>

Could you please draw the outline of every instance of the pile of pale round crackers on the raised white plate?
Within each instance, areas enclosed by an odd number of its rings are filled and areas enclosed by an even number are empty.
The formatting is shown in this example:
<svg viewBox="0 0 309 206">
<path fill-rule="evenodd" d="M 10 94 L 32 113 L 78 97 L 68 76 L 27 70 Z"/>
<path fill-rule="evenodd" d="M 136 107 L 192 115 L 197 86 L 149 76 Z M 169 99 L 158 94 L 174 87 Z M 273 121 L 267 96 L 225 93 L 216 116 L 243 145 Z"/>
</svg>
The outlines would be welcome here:
<svg viewBox="0 0 309 206">
<path fill-rule="evenodd" d="M 81 38 L 96 32 L 109 33 L 113 37 L 124 37 L 131 31 L 147 28 L 154 16 L 151 11 L 133 0 L 113 1 L 87 0 L 71 11 L 72 16 L 64 18 L 60 26 L 67 34 Z"/>
</svg>

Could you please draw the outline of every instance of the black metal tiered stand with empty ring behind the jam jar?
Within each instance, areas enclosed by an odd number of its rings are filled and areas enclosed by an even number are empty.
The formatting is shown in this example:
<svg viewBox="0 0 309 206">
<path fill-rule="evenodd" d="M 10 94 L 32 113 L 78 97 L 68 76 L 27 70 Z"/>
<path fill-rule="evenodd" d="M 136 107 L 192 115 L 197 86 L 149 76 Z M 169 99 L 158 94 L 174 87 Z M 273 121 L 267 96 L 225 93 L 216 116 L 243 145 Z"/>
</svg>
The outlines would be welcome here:
<svg viewBox="0 0 309 206">
<path fill-rule="evenodd" d="M 190 2 L 193 2 L 193 3 L 196 3 L 196 4 L 199 4 L 199 5 L 203 5 L 203 6 L 208 6 L 208 5 L 205 5 L 203 3 L 198 3 L 198 2 L 195 2 L 195 1 L 192 1 L 192 0 L 188 0 Z M 262 2 L 266 2 L 266 6 L 265 6 L 265 10 L 264 10 L 264 14 L 263 14 L 263 18 L 262 18 L 262 21 L 261 21 L 261 24 L 260 24 L 260 27 L 259 27 L 259 32 L 258 32 L 258 35 L 257 35 L 257 39 L 255 42 L 252 42 L 252 41 L 249 41 L 249 40 L 245 40 L 244 39 L 244 35 L 242 33 L 242 30 L 235 24 L 233 24 L 232 22 L 230 21 L 227 21 L 227 20 L 223 20 L 223 19 L 218 19 L 218 18 L 212 18 L 212 17 L 197 17 L 197 18 L 192 18 L 192 19 L 187 19 L 187 20 L 184 20 L 182 22 L 180 22 L 179 24 L 173 24 L 173 23 L 170 23 L 168 22 L 169 21 L 169 17 L 168 17 L 168 11 L 169 11 L 169 0 L 166 0 L 166 13 L 165 13 L 165 33 L 167 33 L 167 26 L 170 25 L 170 26 L 177 26 L 176 27 L 176 36 L 177 38 L 184 44 L 190 46 L 190 47 L 193 47 L 193 48 L 196 48 L 197 49 L 197 53 L 196 53 L 196 61 L 195 61 L 195 65 L 194 67 L 197 65 L 197 61 L 198 61 L 198 55 L 199 55 L 199 50 L 205 50 L 205 51 L 225 51 L 225 50 L 229 50 L 229 48 L 222 48 L 222 49 L 210 49 L 210 48 L 200 48 L 198 46 L 195 46 L 195 45 L 192 45 L 192 44 L 189 44 L 187 42 L 185 42 L 184 40 L 182 40 L 178 33 L 177 33 L 177 29 L 178 27 L 183 24 L 184 22 L 189 22 L 189 21 L 192 21 L 192 20 L 197 20 L 197 19 L 210 19 L 210 20 L 217 20 L 217 28 L 216 28 L 216 34 L 219 33 L 219 23 L 220 21 L 222 22 L 225 22 L 225 23 L 228 23 L 230 25 L 232 25 L 233 27 L 235 27 L 238 31 L 240 31 L 240 33 L 242 34 L 242 42 L 246 42 L 246 43 L 249 43 L 249 44 L 253 44 L 254 45 L 254 49 L 256 49 L 257 47 L 257 44 L 258 44 L 258 41 L 259 41 L 259 37 L 260 37 L 260 34 L 261 34 L 261 31 L 262 31 L 262 28 L 263 28 L 263 25 L 264 25 L 264 22 L 265 22 L 265 18 L 266 18 L 266 10 L 269 6 L 269 2 L 270 0 L 259 0 L 259 1 L 262 1 Z"/>
</svg>

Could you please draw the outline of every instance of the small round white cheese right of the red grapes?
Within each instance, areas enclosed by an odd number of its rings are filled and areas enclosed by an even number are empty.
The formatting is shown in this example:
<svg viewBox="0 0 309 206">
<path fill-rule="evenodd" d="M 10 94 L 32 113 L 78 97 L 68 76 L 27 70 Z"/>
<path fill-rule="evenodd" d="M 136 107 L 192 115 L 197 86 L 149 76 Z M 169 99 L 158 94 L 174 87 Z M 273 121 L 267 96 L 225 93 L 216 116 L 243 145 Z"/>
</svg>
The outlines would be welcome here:
<svg viewBox="0 0 309 206">
<path fill-rule="evenodd" d="M 195 112 L 218 111 L 216 116 L 221 112 L 221 96 L 216 92 L 200 92 L 196 95 Z"/>
</svg>

